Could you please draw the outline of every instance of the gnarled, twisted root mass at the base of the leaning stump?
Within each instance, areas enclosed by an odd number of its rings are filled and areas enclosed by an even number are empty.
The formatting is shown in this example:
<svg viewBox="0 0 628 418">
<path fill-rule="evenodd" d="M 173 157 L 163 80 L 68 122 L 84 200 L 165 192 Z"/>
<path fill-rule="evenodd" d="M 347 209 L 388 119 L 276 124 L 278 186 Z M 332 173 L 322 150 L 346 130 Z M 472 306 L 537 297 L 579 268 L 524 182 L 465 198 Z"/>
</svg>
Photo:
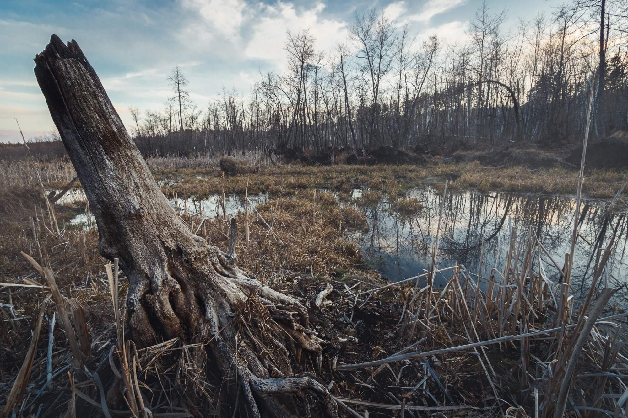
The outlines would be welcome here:
<svg viewBox="0 0 628 418">
<path fill-rule="evenodd" d="M 231 226 L 235 237 L 235 220 Z M 337 416 L 327 387 L 311 372 L 293 372 L 293 363 L 308 360 L 320 372 L 324 343 L 296 297 L 257 281 L 237 267 L 235 254 L 204 240 L 193 255 L 169 259 L 165 278 L 132 281 L 129 326 L 138 345 L 175 337 L 203 343 L 197 367 L 207 368 L 206 358 L 217 366 L 228 387 L 221 401 L 241 416 L 311 416 L 310 397 L 318 401 L 315 415 Z"/>
</svg>

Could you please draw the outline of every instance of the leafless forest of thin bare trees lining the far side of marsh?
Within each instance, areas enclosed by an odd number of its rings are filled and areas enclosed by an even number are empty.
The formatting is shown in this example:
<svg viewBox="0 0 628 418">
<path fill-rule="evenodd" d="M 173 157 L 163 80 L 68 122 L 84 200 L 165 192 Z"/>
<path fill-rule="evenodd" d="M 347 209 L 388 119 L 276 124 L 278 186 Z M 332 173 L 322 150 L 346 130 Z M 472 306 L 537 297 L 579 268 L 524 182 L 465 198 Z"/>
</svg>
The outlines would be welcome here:
<svg viewBox="0 0 628 418">
<path fill-rule="evenodd" d="M 422 40 L 374 10 L 332 53 L 307 29 L 287 33 L 283 72 L 261 74 L 251 92 L 224 89 L 205 109 L 177 67 L 165 80 L 173 96 L 130 109 L 129 128 L 145 153 L 560 142 L 582 136 L 595 71 L 603 138 L 628 126 L 627 8 L 575 0 L 507 28 L 506 11 L 484 4 L 464 42 Z"/>
</svg>

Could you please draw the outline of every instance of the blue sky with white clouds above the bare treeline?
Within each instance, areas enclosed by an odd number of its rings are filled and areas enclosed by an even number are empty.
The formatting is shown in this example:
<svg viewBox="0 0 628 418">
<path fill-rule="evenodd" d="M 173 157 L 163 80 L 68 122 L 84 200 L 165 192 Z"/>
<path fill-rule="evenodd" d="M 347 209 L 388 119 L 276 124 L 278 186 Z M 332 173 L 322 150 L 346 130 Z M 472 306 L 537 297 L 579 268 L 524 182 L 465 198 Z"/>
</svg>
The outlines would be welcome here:
<svg viewBox="0 0 628 418">
<path fill-rule="evenodd" d="M 462 40 L 482 0 L 0 0 L 0 142 L 55 129 L 33 74 L 33 57 L 50 35 L 76 40 L 124 124 L 129 107 L 157 110 L 172 95 L 178 65 L 190 98 L 205 108 L 222 88 L 247 95 L 260 73 L 281 72 L 286 31 L 310 29 L 319 51 L 344 41 L 355 15 L 381 9 L 408 22 L 418 40 L 436 33 Z M 558 0 L 487 0 L 517 18 L 550 14 Z"/>
</svg>

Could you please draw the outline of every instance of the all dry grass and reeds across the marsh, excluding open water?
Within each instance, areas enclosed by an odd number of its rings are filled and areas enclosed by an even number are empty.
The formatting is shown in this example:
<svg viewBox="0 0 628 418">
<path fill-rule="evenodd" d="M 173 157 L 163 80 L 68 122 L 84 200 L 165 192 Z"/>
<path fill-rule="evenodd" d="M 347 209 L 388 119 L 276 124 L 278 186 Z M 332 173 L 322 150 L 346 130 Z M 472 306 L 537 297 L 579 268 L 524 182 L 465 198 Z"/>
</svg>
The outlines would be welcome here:
<svg viewBox="0 0 628 418">
<path fill-rule="evenodd" d="M 33 169 L 41 170 L 48 184 L 63 185 L 73 177 L 63 164 L 3 166 L 8 176 L 0 180 L 0 276 L 2 282 L 16 286 L 0 285 L 4 348 L 0 351 L 0 407 L 14 407 L 18 416 L 59 416 L 73 405 L 82 416 L 100 416 L 100 394 L 118 372 L 125 385 L 134 388 L 134 399 L 146 402 L 153 414 L 192 416 L 185 402 L 195 402 L 206 415 L 224 415 L 220 382 L 214 387 L 200 380 L 202 373 L 189 357 L 188 346 L 175 339 L 136 353 L 131 341 L 125 340 L 121 330 L 128 289 L 124 272 L 119 286 L 113 284 L 117 281 L 114 269 L 106 269 L 106 260 L 97 252 L 97 231 L 68 225 L 71 217 L 84 210 L 82 204 L 57 205 L 53 213 L 46 209 Z M 202 178 L 193 178 L 198 174 Z M 169 193 L 199 196 L 222 191 L 219 174 L 212 167 L 180 167 L 178 163 L 156 173 L 179 178 L 175 185 L 165 186 Z M 550 193 L 573 193 L 570 186 L 578 182 L 578 174 L 565 169 L 482 169 L 475 163 L 431 163 L 427 168 L 263 167 L 259 173 L 225 180 L 227 190 L 243 192 L 248 180 L 249 193 L 266 191 L 274 196 L 257 206 L 259 216 L 252 208 L 248 217 L 237 215 L 239 264 L 279 291 L 308 301 L 333 284 L 327 297 L 331 303 L 312 311 L 315 331 L 328 342 L 319 377 L 325 385 L 334 382 L 330 391 L 350 409 L 368 410 L 372 417 L 396 414 L 393 411 L 401 405 L 408 406 L 406 415 L 428 414 L 434 411 L 426 408 L 436 407 L 448 408 L 448 416 L 550 417 L 569 365 L 575 365 L 573 375 L 578 378 L 572 382 L 571 393 L 578 394 L 579 405 L 614 414 L 615 400 L 625 386 L 609 373 L 622 373 L 628 366 L 628 353 L 621 343 L 624 324 L 618 318 L 604 324 L 587 322 L 587 318 L 597 318 L 597 301 L 604 300 L 597 280 L 607 257 L 600 257 L 585 301 L 568 297 L 561 291 L 568 286 L 547 279 L 546 271 L 561 270 L 563 263 L 541 257 L 543 249 L 533 232 L 511 237 L 506 244 L 506 269 L 469 272 L 453 266 L 444 289 L 431 286 L 436 270 L 418 282 L 408 279 L 399 284 L 383 284 L 353 270 L 361 265 L 361 257 L 347 235 L 367 230 L 368 223 L 363 212 L 338 200 L 347 200 L 353 185 L 367 185 L 362 204 L 372 205 L 386 193 L 393 210 L 416 213 L 419 201 L 397 196 L 438 178 L 452 178 L 452 188 Z M 622 181 L 622 173 L 592 171 L 584 193 L 614 195 Z M 322 187 L 337 194 L 318 190 Z M 211 244 L 227 247 L 229 229 L 224 218 L 182 215 L 182 220 Z M 43 303 L 49 292 L 33 283 L 53 287 L 50 277 L 43 277 L 20 252 L 51 269 L 64 298 Z M 53 313 L 57 311 L 60 319 L 62 307 L 71 309 L 72 315 L 52 328 Z M 602 308 L 606 316 L 615 313 L 609 306 Z M 255 308 L 242 309 L 239 321 Z M 72 333 L 75 337 L 68 341 Z M 31 339 L 38 334 L 38 340 Z M 579 338 L 582 351 L 575 351 Z M 31 341 L 35 343 L 29 351 Z M 85 351 L 90 351 L 85 366 L 97 374 L 89 377 L 79 370 L 68 382 L 73 360 Z M 578 356 L 572 362 L 573 352 Z M 376 360 L 379 363 L 368 363 Z M 18 373 L 21 368 L 24 372 Z M 7 405 L 14 387 L 13 404 Z M 514 405 L 521 405 L 522 410 L 513 412 Z M 121 409 L 122 414 L 131 414 L 124 404 Z"/>
</svg>

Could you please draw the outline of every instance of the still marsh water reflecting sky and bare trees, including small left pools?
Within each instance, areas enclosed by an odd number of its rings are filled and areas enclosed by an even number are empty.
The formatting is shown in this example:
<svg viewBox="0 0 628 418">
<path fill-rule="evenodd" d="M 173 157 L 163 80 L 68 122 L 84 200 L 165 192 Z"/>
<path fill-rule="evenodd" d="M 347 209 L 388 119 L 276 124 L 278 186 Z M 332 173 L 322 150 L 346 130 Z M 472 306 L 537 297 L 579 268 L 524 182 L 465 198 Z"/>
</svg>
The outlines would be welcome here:
<svg viewBox="0 0 628 418">
<path fill-rule="evenodd" d="M 354 190 L 352 200 L 363 192 Z M 65 202 L 85 198 L 82 190 L 72 193 L 64 196 Z M 555 264 L 562 267 L 565 254 L 570 251 L 575 197 L 464 191 L 448 193 L 443 201 L 442 193 L 431 188 L 413 190 L 408 196 L 423 203 L 423 210 L 416 215 L 402 216 L 393 212 L 386 197 L 371 206 L 356 206 L 369 220 L 369 231 L 354 233 L 351 238 L 360 245 L 367 266 L 382 277 L 399 281 L 428 269 L 443 203 L 438 266 L 463 264 L 469 272 L 477 274 L 484 241 L 482 275 L 486 276 L 490 269 L 501 269 L 514 232 L 517 242 L 520 237 L 539 237 L 549 254 L 542 254 L 546 276 L 558 281 L 560 273 Z M 257 205 L 267 201 L 268 196 L 249 195 L 249 199 Z M 354 205 L 352 200 L 343 204 Z M 176 210 L 202 213 L 207 217 L 214 217 L 219 210 L 219 196 L 200 201 L 195 198 L 170 201 Z M 582 202 L 578 218 L 582 237 L 575 246 L 572 272 L 576 291 L 591 279 L 598 250 L 604 251 L 613 237 L 614 247 L 600 284 L 625 286 L 628 223 L 625 210 L 621 209 L 624 203 L 619 201 L 615 206 L 620 209 L 609 211 L 609 201 L 584 199 Z M 226 196 L 225 210 L 228 216 L 244 211 L 244 196 Z M 77 215 L 72 222 L 85 223 L 87 217 Z M 443 284 L 450 274 L 445 272 L 436 277 L 436 283 Z"/>
</svg>

